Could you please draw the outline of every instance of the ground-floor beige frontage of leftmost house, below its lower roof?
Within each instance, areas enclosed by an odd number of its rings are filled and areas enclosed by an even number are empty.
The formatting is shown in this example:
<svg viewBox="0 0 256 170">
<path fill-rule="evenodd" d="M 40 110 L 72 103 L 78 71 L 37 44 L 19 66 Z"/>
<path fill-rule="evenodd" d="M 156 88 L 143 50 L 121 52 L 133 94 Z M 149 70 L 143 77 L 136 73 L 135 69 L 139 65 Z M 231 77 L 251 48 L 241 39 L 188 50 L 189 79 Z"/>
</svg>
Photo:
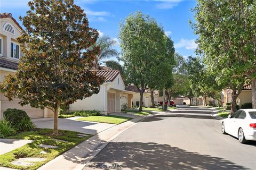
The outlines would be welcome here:
<svg viewBox="0 0 256 170">
<path fill-rule="evenodd" d="M 0 70 L 0 82 L 4 80 L 4 77 L 8 74 L 13 74 L 13 72 L 10 71 L 3 71 Z M 12 101 L 9 101 L 7 98 L 4 97 L 4 95 L 0 92 L 0 119 L 3 119 L 3 112 L 7 108 L 17 108 L 25 111 L 30 118 L 39 118 L 39 117 L 44 117 L 44 111 L 39 108 L 33 108 L 30 107 L 29 105 L 26 106 L 21 106 L 19 105 L 20 99 L 13 99 Z M 49 112 L 50 114 L 50 112 Z"/>
</svg>

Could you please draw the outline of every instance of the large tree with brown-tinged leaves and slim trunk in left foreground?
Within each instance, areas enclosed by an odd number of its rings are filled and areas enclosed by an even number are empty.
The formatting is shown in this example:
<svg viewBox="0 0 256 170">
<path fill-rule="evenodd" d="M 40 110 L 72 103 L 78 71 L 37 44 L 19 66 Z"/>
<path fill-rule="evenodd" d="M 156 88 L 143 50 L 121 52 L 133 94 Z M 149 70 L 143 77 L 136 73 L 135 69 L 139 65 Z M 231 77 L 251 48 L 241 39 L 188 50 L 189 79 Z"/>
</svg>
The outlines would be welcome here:
<svg viewBox="0 0 256 170">
<path fill-rule="evenodd" d="M 25 55 L 1 91 L 9 100 L 21 99 L 22 106 L 51 109 L 53 135 L 58 135 L 60 105 L 97 94 L 103 83 L 89 70 L 100 52 L 98 46 L 90 48 L 98 32 L 73 0 L 34 0 L 28 5 L 27 15 L 20 17 L 26 32 L 18 38 Z"/>
</svg>

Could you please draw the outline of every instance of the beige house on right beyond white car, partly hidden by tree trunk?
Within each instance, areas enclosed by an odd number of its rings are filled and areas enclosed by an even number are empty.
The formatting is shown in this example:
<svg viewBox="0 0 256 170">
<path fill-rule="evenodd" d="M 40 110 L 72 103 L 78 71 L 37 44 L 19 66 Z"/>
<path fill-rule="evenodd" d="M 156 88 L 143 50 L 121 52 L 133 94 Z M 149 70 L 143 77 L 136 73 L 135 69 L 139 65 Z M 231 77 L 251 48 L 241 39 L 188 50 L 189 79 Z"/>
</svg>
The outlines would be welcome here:
<svg viewBox="0 0 256 170">
<path fill-rule="evenodd" d="M 227 103 L 232 101 L 232 90 L 227 88 L 222 90 L 222 104 L 227 106 Z M 241 107 L 245 103 L 252 103 L 252 86 L 246 84 L 243 86 L 241 94 L 236 99 L 236 104 Z"/>
</svg>

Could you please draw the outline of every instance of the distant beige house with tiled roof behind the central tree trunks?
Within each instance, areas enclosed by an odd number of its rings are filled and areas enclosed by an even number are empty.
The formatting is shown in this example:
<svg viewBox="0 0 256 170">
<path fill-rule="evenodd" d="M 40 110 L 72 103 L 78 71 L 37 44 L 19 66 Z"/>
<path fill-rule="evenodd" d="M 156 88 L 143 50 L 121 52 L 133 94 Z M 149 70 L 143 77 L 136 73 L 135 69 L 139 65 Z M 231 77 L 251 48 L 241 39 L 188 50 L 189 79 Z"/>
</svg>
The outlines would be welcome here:
<svg viewBox="0 0 256 170">
<path fill-rule="evenodd" d="M 135 94 L 133 94 L 132 105 L 136 106 L 136 102 L 139 103 L 139 101 L 140 101 L 140 89 L 134 85 L 131 85 L 131 86 L 127 86 L 125 88 L 125 90 L 133 91 L 135 93 Z M 151 97 L 150 97 L 149 89 L 146 89 L 145 92 L 143 93 L 142 102 L 143 102 L 142 106 L 150 107 Z M 154 90 L 154 103 L 155 104 L 158 103 L 158 91 L 157 90 Z"/>
</svg>

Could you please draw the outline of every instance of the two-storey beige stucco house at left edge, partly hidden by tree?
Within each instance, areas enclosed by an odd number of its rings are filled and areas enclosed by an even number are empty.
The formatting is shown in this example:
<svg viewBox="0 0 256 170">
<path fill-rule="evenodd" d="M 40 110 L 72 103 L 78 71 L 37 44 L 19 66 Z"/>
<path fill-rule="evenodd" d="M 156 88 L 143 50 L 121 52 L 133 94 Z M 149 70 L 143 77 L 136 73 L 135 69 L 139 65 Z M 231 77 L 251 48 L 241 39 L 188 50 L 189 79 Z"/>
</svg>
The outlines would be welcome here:
<svg viewBox="0 0 256 170">
<path fill-rule="evenodd" d="M 10 13 L 0 14 L 0 82 L 6 75 L 15 73 L 18 68 L 19 59 L 23 55 L 17 41 L 21 32 L 22 27 Z M 29 105 L 22 107 L 18 104 L 19 101 L 19 99 L 9 101 L 0 92 L 0 120 L 3 119 L 3 112 L 7 108 L 22 109 L 31 118 L 52 116 L 52 112 L 48 109 L 32 108 Z"/>
</svg>

